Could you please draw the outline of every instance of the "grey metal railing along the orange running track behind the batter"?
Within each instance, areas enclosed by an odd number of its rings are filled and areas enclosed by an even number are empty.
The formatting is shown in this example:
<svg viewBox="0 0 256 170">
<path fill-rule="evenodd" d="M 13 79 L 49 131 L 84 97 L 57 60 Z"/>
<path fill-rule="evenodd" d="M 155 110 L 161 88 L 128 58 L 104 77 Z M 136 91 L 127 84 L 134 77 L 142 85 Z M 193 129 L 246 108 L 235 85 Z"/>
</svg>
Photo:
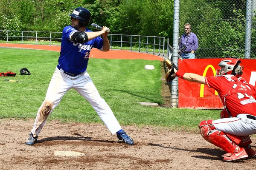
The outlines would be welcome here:
<svg viewBox="0 0 256 170">
<path fill-rule="evenodd" d="M 21 40 L 21 44 L 23 44 L 24 41 L 32 41 L 37 45 L 40 44 L 41 41 L 44 41 L 44 44 L 45 41 L 49 41 L 49 45 L 60 45 L 61 36 L 62 32 L 0 30 L 0 40 L 6 40 L 7 43 Z M 109 34 L 109 39 L 111 49 L 113 48 L 112 45 L 116 45 L 119 46 L 121 50 L 123 47 L 129 47 L 130 51 L 145 52 L 159 56 L 165 55 L 165 44 L 169 41 L 168 39 L 167 42 L 165 42 L 165 37 L 123 34 Z M 153 49 L 153 51 L 149 49 Z"/>
</svg>

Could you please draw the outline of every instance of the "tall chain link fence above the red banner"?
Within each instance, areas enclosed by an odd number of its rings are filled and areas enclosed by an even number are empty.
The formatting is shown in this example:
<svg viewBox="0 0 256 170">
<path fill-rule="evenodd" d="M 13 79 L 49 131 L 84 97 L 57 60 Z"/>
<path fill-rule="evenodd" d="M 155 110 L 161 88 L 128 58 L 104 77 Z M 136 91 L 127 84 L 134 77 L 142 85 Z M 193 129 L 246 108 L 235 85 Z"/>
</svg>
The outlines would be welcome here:
<svg viewBox="0 0 256 170">
<path fill-rule="evenodd" d="M 256 59 L 256 0 L 181 0 L 179 10 L 179 37 L 186 23 L 198 37 L 195 58 Z"/>
</svg>

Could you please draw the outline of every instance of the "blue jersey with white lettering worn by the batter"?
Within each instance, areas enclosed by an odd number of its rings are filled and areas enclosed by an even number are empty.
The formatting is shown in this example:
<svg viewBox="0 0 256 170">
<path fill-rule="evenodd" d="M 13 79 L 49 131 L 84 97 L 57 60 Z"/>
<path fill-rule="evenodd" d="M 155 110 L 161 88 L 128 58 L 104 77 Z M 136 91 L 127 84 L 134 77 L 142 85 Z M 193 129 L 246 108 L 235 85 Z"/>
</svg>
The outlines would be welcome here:
<svg viewBox="0 0 256 170">
<path fill-rule="evenodd" d="M 103 49 L 103 40 L 101 37 L 96 37 L 84 44 L 71 41 L 71 36 L 77 32 L 72 26 L 64 27 L 61 38 L 61 52 L 58 59 L 58 65 L 62 70 L 70 74 L 80 74 L 87 68 L 91 49 Z M 92 32 L 86 28 L 86 32 Z"/>
</svg>

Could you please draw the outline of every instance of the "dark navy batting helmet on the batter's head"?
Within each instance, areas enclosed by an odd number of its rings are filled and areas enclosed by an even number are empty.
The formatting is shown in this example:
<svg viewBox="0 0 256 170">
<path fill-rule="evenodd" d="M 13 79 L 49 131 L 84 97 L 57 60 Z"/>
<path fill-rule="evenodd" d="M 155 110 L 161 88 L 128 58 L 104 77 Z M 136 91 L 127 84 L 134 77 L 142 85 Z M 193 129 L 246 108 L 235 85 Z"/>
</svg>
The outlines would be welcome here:
<svg viewBox="0 0 256 170">
<path fill-rule="evenodd" d="M 83 7 L 78 7 L 76 8 L 72 14 L 69 14 L 69 16 L 71 16 L 71 20 L 72 17 L 79 19 L 79 26 L 84 27 L 87 26 L 90 22 L 90 11 L 88 11 L 86 8 Z"/>
</svg>

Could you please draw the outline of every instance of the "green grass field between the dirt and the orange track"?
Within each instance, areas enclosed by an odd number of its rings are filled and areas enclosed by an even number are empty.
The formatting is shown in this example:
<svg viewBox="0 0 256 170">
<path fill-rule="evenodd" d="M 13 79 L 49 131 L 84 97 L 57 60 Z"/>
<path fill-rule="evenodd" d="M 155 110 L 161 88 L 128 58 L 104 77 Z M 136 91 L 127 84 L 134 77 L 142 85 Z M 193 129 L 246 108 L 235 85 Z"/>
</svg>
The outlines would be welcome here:
<svg viewBox="0 0 256 170">
<path fill-rule="evenodd" d="M 58 63 L 59 53 L 0 48 L 0 56 L 0 72 L 17 73 L 16 77 L 0 77 L 0 119 L 35 119 Z M 154 65 L 155 69 L 145 70 L 144 65 L 147 64 Z M 20 75 L 19 70 L 24 67 L 31 75 Z M 151 107 L 137 103 L 164 102 L 160 95 L 160 61 L 91 58 L 87 71 L 121 125 L 198 130 L 201 120 L 219 118 L 219 110 Z M 73 89 L 64 95 L 49 120 L 102 123 L 90 104 Z"/>
</svg>

